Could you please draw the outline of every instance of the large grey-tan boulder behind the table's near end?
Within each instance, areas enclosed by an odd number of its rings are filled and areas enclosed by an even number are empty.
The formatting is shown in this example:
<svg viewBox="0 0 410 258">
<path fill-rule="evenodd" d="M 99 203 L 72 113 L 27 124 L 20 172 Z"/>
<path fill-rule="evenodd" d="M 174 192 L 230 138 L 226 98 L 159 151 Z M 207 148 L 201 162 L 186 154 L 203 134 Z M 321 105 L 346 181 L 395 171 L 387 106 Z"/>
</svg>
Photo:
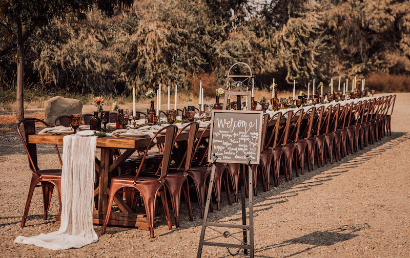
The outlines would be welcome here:
<svg viewBox="0 0 410 258">
<path fill-rule="evenodd" d="M 44 103 L 44 121 L 50 125 L 53 125 L 57 117 L 71 114 L 81 114 L 82 109 L 83 103 L 81 103 L 78 99 L 56 96 Z"/>
</svg>

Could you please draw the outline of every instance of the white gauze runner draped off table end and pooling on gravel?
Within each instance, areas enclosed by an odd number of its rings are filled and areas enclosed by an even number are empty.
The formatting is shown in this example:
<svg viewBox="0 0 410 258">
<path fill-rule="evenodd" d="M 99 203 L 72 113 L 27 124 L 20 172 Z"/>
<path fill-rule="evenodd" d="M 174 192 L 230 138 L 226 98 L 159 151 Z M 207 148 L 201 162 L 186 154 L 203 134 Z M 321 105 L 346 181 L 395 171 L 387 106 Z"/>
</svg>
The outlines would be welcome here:
<svg viewBox="0 0 410 258">
<path fill-rule="evenodd" d="M 64 250 L 98 241 L 92 220 L 97 137 L 67 135 L 63 142 L 60 228 L 29 238 L 17 236 L 15 243 Z"/>
</svg>

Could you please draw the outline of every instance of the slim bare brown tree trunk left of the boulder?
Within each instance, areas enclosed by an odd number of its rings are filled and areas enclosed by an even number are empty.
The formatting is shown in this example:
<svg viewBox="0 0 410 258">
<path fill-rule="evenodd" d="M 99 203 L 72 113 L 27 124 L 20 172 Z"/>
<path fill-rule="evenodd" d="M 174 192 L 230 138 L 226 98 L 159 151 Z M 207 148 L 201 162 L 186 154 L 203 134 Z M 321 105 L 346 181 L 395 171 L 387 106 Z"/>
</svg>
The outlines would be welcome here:
<svg viewBox="0 0 410 258">
<path fill-rule="evenodd" d="M 24 46 L 22 23 L 17 20 L 17 97 L 16 97 L 16 122 L 24 118 L 23 75 L 24 75 Z"/>
</svg>

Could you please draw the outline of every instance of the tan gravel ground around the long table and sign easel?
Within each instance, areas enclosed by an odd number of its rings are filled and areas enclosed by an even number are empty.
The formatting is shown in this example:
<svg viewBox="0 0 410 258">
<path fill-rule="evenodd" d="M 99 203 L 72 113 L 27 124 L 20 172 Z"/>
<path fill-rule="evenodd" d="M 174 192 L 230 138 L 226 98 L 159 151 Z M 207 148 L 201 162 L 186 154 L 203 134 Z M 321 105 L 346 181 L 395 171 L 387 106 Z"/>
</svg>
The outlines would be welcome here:
<svg viewBox="0 0 410 258">
<path fill-rule="evenodd" d="M 258 188 L 254 198 L 256 257 L 410 256 L 408 103 L 410 93 L 397 94 L 391 137 L 290 182 L 281 178 L 280 186 L 271 191 Z M 126 227 L 108 227 L 101 235 L 101 226 L 95 225 L 98 242 L 80 249 L 52 251 L 14 244 L 18 235 L 57 230 L 58 201 L 54 195 L 50 218 L 44 221 L 41 190 L 36 188 L 26 227 L 20 227 L 30 180 L 27 156 L 15 124 L 0 124 L 0 135 L 0 250 L 4 257 L 196 256 L 202 220 L 195 202 L 193 222 L 181 203 L 181 227 L 177 229 L 168 230 L 160 213 L 154 239 L 149 238 L 149 231 Z M 40 167 L 58 166 L 53 146 L 41 146 L 39 153 Z M 239 218 L 240 204 L 228 205 L 226 193 L 222 193 L 222 210 L 210 213 L 209 220 L 237 223 Z M 207 231 L 207 237 L 214 233 Z M 240 233 L 234 236 L 240 239 Z M 230 250 L 233 254 L 236 251 Z M 221 247 L 205 246 L 202 251 L 202 257 L 229 256 Z"/>
</svg>

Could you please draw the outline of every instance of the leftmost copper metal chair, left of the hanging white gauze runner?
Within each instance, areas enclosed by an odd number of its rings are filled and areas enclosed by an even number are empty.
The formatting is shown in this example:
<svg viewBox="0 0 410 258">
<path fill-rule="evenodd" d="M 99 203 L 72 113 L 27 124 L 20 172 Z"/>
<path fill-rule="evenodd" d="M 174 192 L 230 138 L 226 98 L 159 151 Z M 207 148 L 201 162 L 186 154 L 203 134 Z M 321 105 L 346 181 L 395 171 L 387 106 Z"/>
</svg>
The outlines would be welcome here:
<svg viewBox="0 0 410 258">
<path fill-rule="evenodd" d="M 29 160 L 29 167 L 32 172 L 30 188 L 26 206 L 24 208 L 22 227 L 24 227 L 26 224 L 26 218 L 29 212 L 31 198 L 33 197 L 34 188 L 38 183 L 40 183 L 40 186 L 43 190 L 44 220 L 47 220 L 47 212 L 50 207 L 51 196 L 53 194 L 54 187 L 56 187 L 58 191 L 58 202 L 61 211 L 61 169 L 39 169 L 37 165 L 37 146 L 36 144 L 28 143 L 29 135 L 35 134 L 36 123 L 42 126 L 49 127 L 46 122 L 37 118 L 25 118 L 23 120 L 20 120 L 17 124 L 17 132 L 23 141 L 23 145 L 26 149 Z"/>
</svg>

